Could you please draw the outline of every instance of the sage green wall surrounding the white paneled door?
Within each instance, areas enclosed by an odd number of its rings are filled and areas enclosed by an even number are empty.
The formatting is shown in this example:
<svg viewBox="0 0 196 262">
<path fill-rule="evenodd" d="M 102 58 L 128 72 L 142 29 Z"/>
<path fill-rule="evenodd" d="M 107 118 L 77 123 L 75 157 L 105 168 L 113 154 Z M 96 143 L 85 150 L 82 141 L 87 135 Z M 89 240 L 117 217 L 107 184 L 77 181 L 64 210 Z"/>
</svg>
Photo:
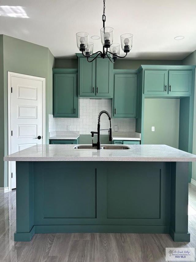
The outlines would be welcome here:
<svg viewBox="0 0 196 262">
<path fill-rule="evenodd" d="M 7 72 L 16 72 L 31 76 L 46 78 L 46 143 L 48 143 L 48 114 L 52 113 L 52 67 L 54 56 L 47 47 L 35 45 L 17 38 L 3 37 L 3 72 L 4 72 L 4 126 L 5 146 L 4 155 L 7 155 Z M 2 46 L 0 46 L 2 50 Z M 2 91 L 3 92 L 3 91 Z M 7 163 L 5 162 L 5 177 L 0 173 L 0 187 L 7 184 Z"/>
</svg>

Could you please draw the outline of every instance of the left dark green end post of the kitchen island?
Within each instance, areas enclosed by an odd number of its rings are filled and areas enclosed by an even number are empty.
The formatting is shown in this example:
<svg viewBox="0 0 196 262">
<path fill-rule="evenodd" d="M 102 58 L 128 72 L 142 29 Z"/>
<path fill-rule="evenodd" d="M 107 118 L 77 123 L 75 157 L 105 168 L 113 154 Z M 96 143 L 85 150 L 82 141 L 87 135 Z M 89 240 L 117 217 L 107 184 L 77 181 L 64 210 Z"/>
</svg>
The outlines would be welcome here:
<svg viewBox="0 0 196 262">
<path fill-rule="evenodd" d="M 17 210 L 15 241 L 30 241 L 34 235 L 33 162 L 16 162 Z"/>
</svg>

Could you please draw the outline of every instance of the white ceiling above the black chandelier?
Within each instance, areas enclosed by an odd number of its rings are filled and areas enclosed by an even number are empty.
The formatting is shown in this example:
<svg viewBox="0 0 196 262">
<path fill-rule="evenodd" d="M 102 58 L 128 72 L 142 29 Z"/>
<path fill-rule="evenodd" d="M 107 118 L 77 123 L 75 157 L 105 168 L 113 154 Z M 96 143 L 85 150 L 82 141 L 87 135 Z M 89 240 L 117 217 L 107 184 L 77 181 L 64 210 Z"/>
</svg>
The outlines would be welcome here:
<svg viewBox="0 0 196 262">
<path fill-rule="evenodd" d="M 105 1 L 105 26 L 114 28 L 114 42 L 123 33 L 134 35 L 128 59 L 181 60 L 196 49 L 195 0 Z M 75 34 L 90 38 L 103 27 L 102 0 L 0 0 L 0 6 L 22 6 L 29 17 L 1 15 L 0 34 L 46 46 L 55 57 L 75 58 Z M 101 40 L 90 41 L 94 52 L 102 50 Z"/>
</svg>

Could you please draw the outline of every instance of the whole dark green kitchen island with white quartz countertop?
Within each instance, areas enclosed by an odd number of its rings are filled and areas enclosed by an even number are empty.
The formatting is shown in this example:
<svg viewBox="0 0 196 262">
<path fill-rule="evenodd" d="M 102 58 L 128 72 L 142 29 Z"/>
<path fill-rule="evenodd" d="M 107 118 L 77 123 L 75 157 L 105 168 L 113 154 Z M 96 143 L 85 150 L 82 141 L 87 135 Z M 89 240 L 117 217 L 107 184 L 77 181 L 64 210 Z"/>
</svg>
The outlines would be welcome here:
<svg viewBox="0 0 196 262">
<path fill-rule="evenodd" d="M 166 145 L 74 146 L 37 145 L 4 157 L 17 168 L 15 241 L 71 232 L 169 233 L 190 241 L 188 162 L 196 155 Z"/>
</svg>

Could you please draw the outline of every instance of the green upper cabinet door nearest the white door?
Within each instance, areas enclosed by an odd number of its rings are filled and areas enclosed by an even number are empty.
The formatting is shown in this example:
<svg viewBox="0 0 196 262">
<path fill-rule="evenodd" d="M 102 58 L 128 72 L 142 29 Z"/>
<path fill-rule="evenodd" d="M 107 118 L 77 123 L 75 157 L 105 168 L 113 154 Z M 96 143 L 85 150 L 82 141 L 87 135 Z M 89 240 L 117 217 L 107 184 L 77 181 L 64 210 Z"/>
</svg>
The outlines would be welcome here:
<svg viewBox="0 0 196 262">
<path fill-rule="evenodd" d="M 77 74 L 54 74 L 54 117 L 78 117 Z"/>
</svg>

